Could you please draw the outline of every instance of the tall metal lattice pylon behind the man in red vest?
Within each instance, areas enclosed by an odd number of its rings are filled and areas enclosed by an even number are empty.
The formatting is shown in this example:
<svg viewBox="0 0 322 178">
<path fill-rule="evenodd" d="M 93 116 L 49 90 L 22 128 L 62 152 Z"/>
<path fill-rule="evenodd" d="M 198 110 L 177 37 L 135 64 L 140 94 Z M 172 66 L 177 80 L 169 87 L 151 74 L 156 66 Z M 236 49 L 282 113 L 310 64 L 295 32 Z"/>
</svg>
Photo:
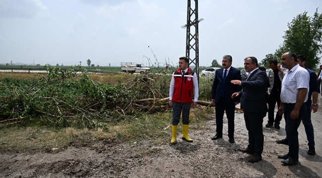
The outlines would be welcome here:
<svg viewBox="0 0 322 178">
<path fill-rule="evenodd" d="M 190 64 L 194 64 L 196 68 L 194 71 L 198 77 L 199 84 L 199 30 L 198 24 L 204 19 L 198 20 L 198 0 L 195 1 L 194 9 L 191 7 L 191 1 L 188 0 L 187 24 L 181 28 L 187 28 L 186 36 L 186 57 L 189 58 Z"/>
</svg>

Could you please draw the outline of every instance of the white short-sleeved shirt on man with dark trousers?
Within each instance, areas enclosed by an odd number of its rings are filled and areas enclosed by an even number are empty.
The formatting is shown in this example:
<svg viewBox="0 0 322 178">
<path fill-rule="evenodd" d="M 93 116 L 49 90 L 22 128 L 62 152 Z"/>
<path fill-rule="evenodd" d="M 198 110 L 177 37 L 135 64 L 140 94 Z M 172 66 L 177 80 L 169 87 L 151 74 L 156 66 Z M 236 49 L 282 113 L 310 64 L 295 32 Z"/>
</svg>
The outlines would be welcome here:
<svg viewBox="0 0 322 178">
<path fill-rule="evenodd" d="M 296 103 L 298 89 L 308 89 L 305 101 L 308 100 L 309 95 L 309 81 L 310 75 L 308 70 L 301 67 L 299 64 L 287 71 L 283 81 L 280 99 L 283 103 Z"/>
</svg>

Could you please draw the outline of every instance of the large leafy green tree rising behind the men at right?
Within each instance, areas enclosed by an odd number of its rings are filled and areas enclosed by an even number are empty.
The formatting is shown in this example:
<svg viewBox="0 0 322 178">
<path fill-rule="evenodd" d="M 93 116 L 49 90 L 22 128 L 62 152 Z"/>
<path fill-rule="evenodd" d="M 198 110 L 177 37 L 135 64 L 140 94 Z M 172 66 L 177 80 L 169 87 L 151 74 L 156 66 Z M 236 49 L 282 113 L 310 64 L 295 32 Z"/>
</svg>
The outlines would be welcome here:
<svg viewBox="0 0 322 178">
<path fill-rule="evenodd" d="M 292 22 L 287 23 L 288 30 L 283 36 L 284 42 L 276 49 L 275 54 L 280 58 L 286 51 L 306 56 L 306 67 L 315 69 L 320 63 L 322 53 L 322 14 L 318 9 L 313 17 L 307 11 L 298 14 Z"/>
</svg>

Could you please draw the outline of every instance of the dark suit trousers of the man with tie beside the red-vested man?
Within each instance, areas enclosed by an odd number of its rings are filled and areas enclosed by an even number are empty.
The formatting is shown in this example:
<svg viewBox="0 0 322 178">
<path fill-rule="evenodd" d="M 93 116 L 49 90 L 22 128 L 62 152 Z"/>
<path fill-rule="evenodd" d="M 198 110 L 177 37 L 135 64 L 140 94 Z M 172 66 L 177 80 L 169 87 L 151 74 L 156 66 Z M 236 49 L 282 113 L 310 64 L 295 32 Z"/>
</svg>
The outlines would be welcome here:
<svg viewBox="0 0 322 178">
<path fill-rule="evenodd" d="M 216 132 L 222 135 L 223 115 L 225 111 L 228 120 L 228 136 L 234 137 L 235 101 L 231 98 L 221 97 L 215 104 Z"/>
</svg>

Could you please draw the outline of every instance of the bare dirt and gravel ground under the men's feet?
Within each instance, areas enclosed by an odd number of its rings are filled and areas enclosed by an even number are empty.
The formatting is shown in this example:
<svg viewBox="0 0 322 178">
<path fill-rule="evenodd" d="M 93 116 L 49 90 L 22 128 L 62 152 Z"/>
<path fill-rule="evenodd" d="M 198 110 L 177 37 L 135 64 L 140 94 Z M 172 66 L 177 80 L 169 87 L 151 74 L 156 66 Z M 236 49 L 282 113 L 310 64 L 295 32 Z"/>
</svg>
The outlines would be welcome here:
<svg viewBox="0 0 322 178">
<path fill-rule="evenodd" d="M 319 95 L 322 106 L 322 96 Z M 193 111 L 192 111 L 193 112 Z M 210 117 L 214 118 L 214 115 Z M 93 141 L 92 146 L 74 143 L 63 152 L 0 154 L 1 178 L 321 178 L 322 177 L 322 108 L 312 113 L 317 154 L 307 154 L 304 127 L 299 128 L 299 164 L 282 166 L 278 154 L 288 152 L 287 145 L 275 140 L 285 137 L 281 129 L 265 128 L 263 160 L 249 163 L 250 155 L 237 151 L 247 146 L 248 136 L 242 113 L 235 114 L 235 141 L 228 142 L 227 122 L 223 139 L 211 140 L 215 134 L 215 118 L 205 126 L 191 125 L 189 135 L 193 143 L 184 142 L 178 133 L 178 143 L 169 139 L 161 144 L 155 140 L 117 143 L 112 140 Z M 99 144 L 100 146 L 97 146 Z M 86 145 L 91 145 L 86 143 Z"/>
</svg>

